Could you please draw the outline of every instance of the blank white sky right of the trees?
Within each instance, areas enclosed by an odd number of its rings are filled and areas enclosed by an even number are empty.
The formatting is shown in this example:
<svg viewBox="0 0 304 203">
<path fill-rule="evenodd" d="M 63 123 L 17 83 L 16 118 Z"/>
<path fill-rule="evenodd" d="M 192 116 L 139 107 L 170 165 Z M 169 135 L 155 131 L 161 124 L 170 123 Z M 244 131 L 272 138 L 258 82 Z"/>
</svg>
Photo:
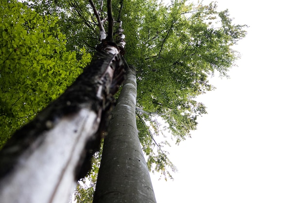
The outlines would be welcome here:
<svg viewBox="0 0 304 203">
<path fill-rule="evenodd" d="M 208 114 L 192 138 L 169 149 L 174 181 L 152 175 L 157 203 L 304 203 L 302 3 L 218 5 L 250 26 L 242 56 L 230 79 L 210 80 L 217 89 L 202 95 Z"/>
</svg>

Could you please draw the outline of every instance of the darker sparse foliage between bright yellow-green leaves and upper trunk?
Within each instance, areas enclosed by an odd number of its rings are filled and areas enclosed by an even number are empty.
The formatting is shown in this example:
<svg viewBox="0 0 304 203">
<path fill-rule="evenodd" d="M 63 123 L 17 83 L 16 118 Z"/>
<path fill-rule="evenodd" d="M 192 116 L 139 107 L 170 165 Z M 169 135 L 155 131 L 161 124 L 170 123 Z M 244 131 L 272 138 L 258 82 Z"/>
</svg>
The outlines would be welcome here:
<svg viewBox="0 0 304 203">
<path fill-rule="evenodd" d="M 28 0 L 24 0 L 27 2 Z M 57 25 L 67 37 L 68 51 L 85 47 L 93 54 L 99 43 L 99 28 L 88 0 L 32 0 L 29 6 L 37 13 L 56 16 Z M 100 8 L 96 1 L 96 6 Z M 104 2 L 106 4 L 106 1 Z M 106 17 L 106 13 L 102 13 Z"/>
</svg>

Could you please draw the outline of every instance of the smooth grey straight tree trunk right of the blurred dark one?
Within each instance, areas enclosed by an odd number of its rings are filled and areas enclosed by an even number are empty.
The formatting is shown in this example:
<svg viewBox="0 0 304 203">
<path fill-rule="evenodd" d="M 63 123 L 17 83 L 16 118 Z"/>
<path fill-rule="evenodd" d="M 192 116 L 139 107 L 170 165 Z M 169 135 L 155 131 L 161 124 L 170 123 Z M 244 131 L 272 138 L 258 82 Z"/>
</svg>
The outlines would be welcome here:
<svg viewBox="0 0 304 203">
<path fill-rule="evenodd" d="M 156 203 L 135 118 L 135 69 L 129 68 L 104 138 L 93 203 Z"/>
</svg>

